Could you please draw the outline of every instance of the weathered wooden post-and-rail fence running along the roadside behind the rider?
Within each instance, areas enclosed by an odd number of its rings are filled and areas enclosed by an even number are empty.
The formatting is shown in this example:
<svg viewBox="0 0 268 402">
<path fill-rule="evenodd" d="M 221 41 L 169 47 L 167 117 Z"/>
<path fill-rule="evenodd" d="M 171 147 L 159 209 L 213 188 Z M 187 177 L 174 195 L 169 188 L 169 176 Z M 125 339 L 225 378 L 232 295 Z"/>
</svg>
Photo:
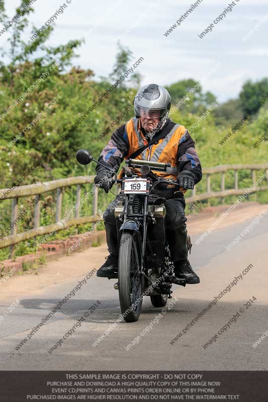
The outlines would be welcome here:
<svg viewBox="0 0 268 402">
<path fill-rule="evenodd" d="M 268 185 L 256 184 L 256 171 L 265 170 L 265 179 L 268 182 L 268 163 L 263 164 L 250 164 L 250 165 L 221 165 L 210 168 L 203 169 L 203 175 L 206 176 L 207 191 L 205 193 L 197 194 L 196 187 L 192 190 L 192 196 L 187 197 L 187 203 L 193 204 L 197 200 L 205 200 L 216 197 L 226 197 L 229 195 L 242 195 L 250 188 L 239 188 L 239 170 L 250 170 L 253 188 L 250 192 L 264 191 L 268 190 Z M 234 171 L 234 188 L 225 189 L 225 173 L 233 170 Z M 221 173 L 221 190 L 211 191 L 211 176 L 216 173 Z M 204 180 L 204 178 L 203 178 Z M 262 177 L 264 181 L 264 178 Z M 261 180 L 261 182 L 262 182 Z M 11 234 L 10 236 L 4 237 L 0 240 L 0 249 L 4 247 L 11 247 L 10 256 L 14 257 L 14 246 L 22 241 L 29 240 L 41 235 L 48 235 L 48 237 L 62 229 L 69 228 L 75 225 L 82 225 L 87 223 L 95 223 L 101 221 L 102 217 L 97 214 L 98 211 L 98 187 L 93 185 L 92 195 L 93 195 L 93 207 L 92 216 L 79 217 L 80 206 L 81 206 L 81 185 L 82 184 L 93 184 L 94 176 L 78 176 L 69 177 L 66 179 L 59 179 L 53 181 L 47 181 L 44 183 L 36 183 L 30 185 L 24 185 L 20 187 L 5 188 L 0 190 L 0 200 L 11 199 L 12 198 L 12 217 L 11 217 Z M 71 187 L 76 185 L 76 204 L 71 210 L 71 214 L 67 213 L 63 218 L 62 216 L 62 198 L 64 187 Z M 56 190 L 56 222 L 52 225 L 41 226 L 40 227 L 40 205 L 41 205 L 41 194 L 48 191 Z M 27 232 L 17 233 L 18 230 L 18 199 L 20 197 L 33 196 L 34 198 L 34 229 Z M 74 215 L 74 217 L 70 217 Z"/>
</svg>

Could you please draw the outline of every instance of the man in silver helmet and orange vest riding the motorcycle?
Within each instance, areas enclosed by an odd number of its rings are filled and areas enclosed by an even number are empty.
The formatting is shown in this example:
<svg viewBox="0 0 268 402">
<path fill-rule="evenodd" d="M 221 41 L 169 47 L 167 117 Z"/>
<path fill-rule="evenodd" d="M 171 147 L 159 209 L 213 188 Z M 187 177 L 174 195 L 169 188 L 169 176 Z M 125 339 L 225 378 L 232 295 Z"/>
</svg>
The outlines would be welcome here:
<svg viewBox="0 0 268 402">
<path fill-rule="evenodd" d="M 135 118 L 114 131 L 108 144 L 103 149 L 99 162 L 118 170 L 123 159 L 132 157 L 135 151 L 152 142 L 143 149 L 136 159 L 155 162 L 170 162 L 167 172 L 154 172 L 162 177 L 176 180 L 181 189 L 193 189 L 202 178 L 202 168 L 195 150 L 195 142 L 185 126 L 168 119 L 171 98 L 168 91 L 157 85 L 149 84 L 140 88 L 134 98 Z M 155 140 L 155 141 L 154 141 Z M 138 152 L 137 152 L 138 153 Z M 113 185 L 111 172 L 104 166 L 97 165 L 94 182 L 107 193 Z M 185 217 L 185 197 L 178 188 L 157 189 L 152 193 L 166 199 L 164 225 L 174 263 L 177 278 L 185 278 L 186 283 L 200 283 L 198 275 L 188 260 L 187 227 Z M 118 198 L 118 197 L 117 197 Z M 116 199 L 117 199 L 116 198 Z M 97 271 L 97 276 L 117 277 L 118 240 L 114 208 L 116 200 L 104 213 L 106 239 L 110 255 Z"/>
</svg>

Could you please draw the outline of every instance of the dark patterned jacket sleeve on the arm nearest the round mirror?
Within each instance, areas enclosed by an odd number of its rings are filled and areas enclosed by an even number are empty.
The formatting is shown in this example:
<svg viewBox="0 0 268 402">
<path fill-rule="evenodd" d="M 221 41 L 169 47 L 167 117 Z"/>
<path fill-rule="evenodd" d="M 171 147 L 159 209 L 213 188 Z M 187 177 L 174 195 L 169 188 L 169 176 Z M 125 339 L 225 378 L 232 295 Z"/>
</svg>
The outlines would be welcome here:
<svg viewBox="0 0 268 402">
<path fill-rule="evenodd" d="M 124 157 L 128 154 L 129 142 L 126 133 L 126 125 L 120 126 L 113 132 L 108 144 L 104 147 L 98 161 L 114 168 L 117 172 Z M 96 171 L 103 169 L 101 165 L 97 165 Z"/>
</svg>

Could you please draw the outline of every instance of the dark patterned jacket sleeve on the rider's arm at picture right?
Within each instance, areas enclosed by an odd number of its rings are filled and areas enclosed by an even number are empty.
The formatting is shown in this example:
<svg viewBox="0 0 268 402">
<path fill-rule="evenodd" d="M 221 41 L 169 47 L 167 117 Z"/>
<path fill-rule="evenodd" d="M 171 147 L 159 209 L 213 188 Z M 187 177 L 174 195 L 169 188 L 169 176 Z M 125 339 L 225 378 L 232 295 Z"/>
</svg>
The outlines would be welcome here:
<svg viewBox="0 0 268 402">
<path fill-rule="evenodd" d="M 195 176 L 195 184 L 202 179 L 202 167 L 200 159 L 195 150 L 195 142 L 189 131 L 186 130 L 184 136 L 180 140 L 177 150 L 178 169 L 191 170 Z"/>
</svg>

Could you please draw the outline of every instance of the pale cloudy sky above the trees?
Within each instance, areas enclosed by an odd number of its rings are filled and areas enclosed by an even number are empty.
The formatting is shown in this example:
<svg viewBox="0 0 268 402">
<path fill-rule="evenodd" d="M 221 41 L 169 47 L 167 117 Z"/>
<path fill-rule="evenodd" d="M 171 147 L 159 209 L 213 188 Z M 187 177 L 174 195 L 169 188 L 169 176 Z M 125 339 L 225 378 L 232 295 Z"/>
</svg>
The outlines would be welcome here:
<svg viewBox="0 0 268 402">
<path fill-rule="evenodd" d="M 5 3 L 12 18 L 20 2 Z M 112 71 L 120 39 L 133 52 L 133 63 L 144 58 L 136 69 L 143 85 L 165 86 L 193 78 L 201 81 L 204 90 L 226 99 L 236 97 L 246 80 L 268 76 L 267 0 L 235 0 L 232 11 L 225 12 L 217 24 L 213 21 L 232 2 L 203 0 L 165 36 L 193 3 L 195 0 L 65 0 L 66 7 L 58 14 L 47 44 L 58 46 L 84 38 L 73 64 L 92 69 L 98 79 Z M 36 0 L 31 23 L 41 27 L 63 4 L 64 0 Z M 212 31 L 201 39 L 199 35 L 211 23 Z M 25 40 L 31 36 L 32 24 Z M 7 37 L 8 32 L 0 36 L 0 46 L 7 46 Z"/>
</svg>

